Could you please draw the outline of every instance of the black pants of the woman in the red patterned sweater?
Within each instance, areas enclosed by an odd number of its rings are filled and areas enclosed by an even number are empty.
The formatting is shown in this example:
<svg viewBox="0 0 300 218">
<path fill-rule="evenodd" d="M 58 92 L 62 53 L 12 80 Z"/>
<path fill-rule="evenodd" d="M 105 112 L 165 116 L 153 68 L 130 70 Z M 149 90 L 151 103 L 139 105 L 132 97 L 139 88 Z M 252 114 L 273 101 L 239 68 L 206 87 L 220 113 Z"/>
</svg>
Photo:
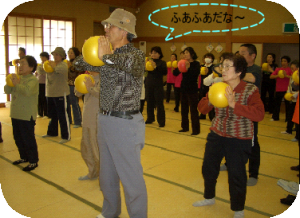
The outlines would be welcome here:
<svg viewBox="0 0 300 218">
<path fill-rule="evenodd" d="M 231 210 L 244 210 L 247 190 L 246 164 L 251 152 L 251 140 L 226 138 L 210 132 L 204 153 L 202 175 L 204 178 L 204 198 L 216 196 L 220 163 L 225 156 Z"/>
</svg>

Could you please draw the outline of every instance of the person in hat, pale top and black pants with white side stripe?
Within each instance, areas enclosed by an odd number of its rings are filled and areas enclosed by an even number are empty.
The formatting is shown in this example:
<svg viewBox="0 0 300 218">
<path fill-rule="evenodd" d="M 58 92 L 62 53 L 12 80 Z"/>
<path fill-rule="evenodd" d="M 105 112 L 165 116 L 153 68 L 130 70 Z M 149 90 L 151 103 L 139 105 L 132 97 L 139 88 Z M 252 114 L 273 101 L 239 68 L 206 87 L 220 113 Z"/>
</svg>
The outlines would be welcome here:
<svg viewBox="0 0 300 218">
<path fill-rule="evenodd" d="M 49 61 L 53 68 L 52 73 L 46 77 L 46 97 L 48 102 L 48 115 L 51 118 L 47 135 L 45 137 L 58 136 L 58 121 L 60 125 L 61 144 L 71 139 L 70 123 L 67 113 L 70 89 L 68 86 L 68 66 L 63 62 L 66 59 L 66 52 L 62 47 L 57 47 L 51 53 L 54 61 Z"/>
</svg>

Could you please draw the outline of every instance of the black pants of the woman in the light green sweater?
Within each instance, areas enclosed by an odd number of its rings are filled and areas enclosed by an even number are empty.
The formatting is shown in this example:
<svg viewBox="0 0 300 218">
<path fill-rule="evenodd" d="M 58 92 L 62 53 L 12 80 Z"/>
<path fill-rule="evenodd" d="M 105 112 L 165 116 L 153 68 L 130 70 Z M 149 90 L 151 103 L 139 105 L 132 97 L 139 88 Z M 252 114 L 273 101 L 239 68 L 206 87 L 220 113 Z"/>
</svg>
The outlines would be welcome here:
<svg viewBox="0 0 300 218">
<path fill-rule="evenodd" d="M 19 120 L 11 118 L 13 135 L 18 147 L 20 158 L 26 159 L 29 163 L 37 163 L 38 150 L 34 135 L 35 120 Z"/>
</svg>

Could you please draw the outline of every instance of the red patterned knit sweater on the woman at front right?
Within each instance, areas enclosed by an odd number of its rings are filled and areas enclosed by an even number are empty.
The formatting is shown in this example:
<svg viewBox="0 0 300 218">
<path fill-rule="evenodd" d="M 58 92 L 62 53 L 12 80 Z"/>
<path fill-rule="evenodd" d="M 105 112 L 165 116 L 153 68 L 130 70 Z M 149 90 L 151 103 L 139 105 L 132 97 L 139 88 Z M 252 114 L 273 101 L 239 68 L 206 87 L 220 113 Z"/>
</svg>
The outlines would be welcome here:
<svg viewBox="0 0 300 218">
<path fill-rule="evenodd" d="M 212 120 L 210 130 L 223 137 L 252 139 L 252 121 L 263 120 L 265 114 L 258 87 L 241 81 L 233 91 L 235 92 L 235 108 L 216 107 L 216 116 Z M 202 114 L 207 114 L 213 109 L 214 106 L 208 102 L 207 96 L 199 102 L 198 109 Z"/>
</svg>

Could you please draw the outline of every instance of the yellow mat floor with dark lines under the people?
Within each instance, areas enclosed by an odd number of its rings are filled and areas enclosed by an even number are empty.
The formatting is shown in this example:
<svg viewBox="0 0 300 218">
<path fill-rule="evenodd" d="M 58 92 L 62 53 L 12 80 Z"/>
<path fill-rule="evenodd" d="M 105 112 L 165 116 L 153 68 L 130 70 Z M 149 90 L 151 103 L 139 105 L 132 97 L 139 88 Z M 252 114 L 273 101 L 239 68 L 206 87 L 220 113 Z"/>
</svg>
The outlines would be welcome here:
<svg viewBox="0 0 300 218">
<path fill-rule="evenodd" d="M 173 111 L 174 102 L 165 104 L 165 108 L 164 128 L 159 128 L 156 122 L 146 126 L 146 145 L 141 157 L 148 190 L 148 217 L 233 217 L 226 171 L 219 175 L 216 204 L 202 208 L 192 206 L 194 201 L 203 199 L 201 167 L 210 121 L 201 120 L 200 135 L 179 133 L 181 115 Z M 298 143 L 291 142 L 295 134 L 280 133 L 286 126 L 284 114 L 278 122 L 271 122 L 270 118 L 266 114 L 259 123 L 261 167 L 258 184 L 247 189 L 245 217 L 249 218 L 272 217 L 286 211 L 288 206 L 281 204 L 280 199 L 289 193 L 279 187 L 277 181 L 299 181 L 297 172 L 290 170 L 291 166 L 299 164 Z M 59 144 L 59 137 L 41 138 L 46 134 L 49 120 L 38 118 L 35 133 L 39 167 L 28 173 L 21 170 L 26 164 L 12 165 L 19 154 L 8 108 L 0 108 L 0 121 L 4 139 L 0 144 L 0 183 L 11 208 L 32 218 L 95 218 L 101 212 L 103 196 L 98 180 L 78 180 L 79 176 L 87 174 L 80 154 L 81 128 L 72 128 L 71 141 Z M 298 211 L 298 215 L 293 212 L 295 216 L 280 217 L 299 217 L 299 209 L 295 207 L 291 209 Z M 0 208 L 4 208 L 4 204 Z M 4 215 L 6 212 L 0 209 L 0 217 L 21 217 Z M 128 217 L 122 194 L 120 218 Z"/>
</svg>

